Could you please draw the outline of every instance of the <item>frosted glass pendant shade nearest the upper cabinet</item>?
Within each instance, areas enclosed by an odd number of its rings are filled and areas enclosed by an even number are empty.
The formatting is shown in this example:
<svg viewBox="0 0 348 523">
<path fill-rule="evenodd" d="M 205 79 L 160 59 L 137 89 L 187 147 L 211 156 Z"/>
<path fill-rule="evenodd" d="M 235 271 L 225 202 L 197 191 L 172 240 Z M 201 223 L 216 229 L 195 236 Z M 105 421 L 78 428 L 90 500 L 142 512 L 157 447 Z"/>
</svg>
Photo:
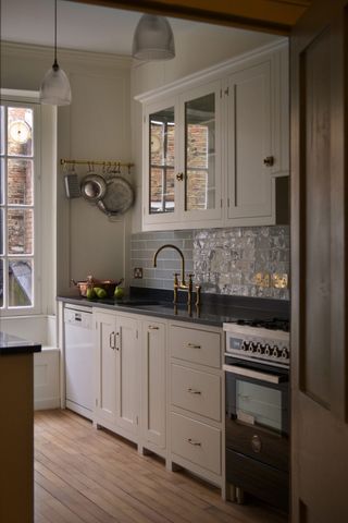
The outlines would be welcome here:
<svg viewBox="0 0 348 523">
<path fill-rule="evenodd" d="M 138 60 L 170 60 L 175 57 L 174 36 L 163 16 L 144 14 L 133 38 L 132 56 Z"/>
</svg>

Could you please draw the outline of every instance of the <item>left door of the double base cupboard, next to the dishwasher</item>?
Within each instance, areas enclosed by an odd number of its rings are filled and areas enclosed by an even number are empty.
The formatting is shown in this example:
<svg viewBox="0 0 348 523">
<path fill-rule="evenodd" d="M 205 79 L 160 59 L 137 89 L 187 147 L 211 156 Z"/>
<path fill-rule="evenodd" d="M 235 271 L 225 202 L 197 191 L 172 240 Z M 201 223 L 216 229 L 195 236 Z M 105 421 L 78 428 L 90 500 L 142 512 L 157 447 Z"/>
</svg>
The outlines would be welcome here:
<svg viewBox="0 0 348 523">
<path fill-rule="evenodd" d="M 114 423 L 116 416 L 116 321 L 112 314 L 96 313 L 96 412 Z"/>
</svg>

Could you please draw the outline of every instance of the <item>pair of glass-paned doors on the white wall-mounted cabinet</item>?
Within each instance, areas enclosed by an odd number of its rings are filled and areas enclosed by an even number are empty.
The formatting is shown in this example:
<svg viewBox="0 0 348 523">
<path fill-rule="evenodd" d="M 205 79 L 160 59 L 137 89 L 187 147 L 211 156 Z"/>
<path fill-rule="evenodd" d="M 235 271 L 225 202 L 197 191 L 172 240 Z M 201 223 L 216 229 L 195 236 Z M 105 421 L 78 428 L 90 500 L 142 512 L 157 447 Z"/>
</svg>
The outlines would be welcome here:
<svg viewBox="0 0 348 523">
<path fill-rule="evenodd" d="M 146 107 L 146 224 L 221 219 L 219 99 L 213 82 Z"/>
</svg>

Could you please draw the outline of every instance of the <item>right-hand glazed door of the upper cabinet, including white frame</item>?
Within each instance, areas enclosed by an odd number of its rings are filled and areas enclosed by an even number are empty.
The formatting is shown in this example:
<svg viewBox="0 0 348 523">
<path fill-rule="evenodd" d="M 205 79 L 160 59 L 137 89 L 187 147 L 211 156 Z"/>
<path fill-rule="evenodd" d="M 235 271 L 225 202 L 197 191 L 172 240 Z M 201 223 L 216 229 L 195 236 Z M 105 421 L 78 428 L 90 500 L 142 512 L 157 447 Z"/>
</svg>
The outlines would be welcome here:
<svg viewBox="0 0 348 523">
<path fill-rule="evenodd" d="M 182 221 L 222 218 L 221 82 L 191 89 L 181 96 L 183 181 Z"/>
</svg>

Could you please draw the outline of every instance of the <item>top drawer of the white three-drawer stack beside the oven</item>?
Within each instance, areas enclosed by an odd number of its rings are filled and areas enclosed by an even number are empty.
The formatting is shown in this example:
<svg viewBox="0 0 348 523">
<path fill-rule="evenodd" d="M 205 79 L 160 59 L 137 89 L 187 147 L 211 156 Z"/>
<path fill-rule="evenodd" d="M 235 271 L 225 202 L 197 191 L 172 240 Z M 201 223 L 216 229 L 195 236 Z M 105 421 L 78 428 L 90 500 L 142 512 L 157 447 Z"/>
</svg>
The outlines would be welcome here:
<svg viewBox="0 0 348 523">
<path fill-rule="evenodd" d="M 221 335 L 171 325 L 170 351 L 173 357 L 221 368 Z"/>
</svg>

